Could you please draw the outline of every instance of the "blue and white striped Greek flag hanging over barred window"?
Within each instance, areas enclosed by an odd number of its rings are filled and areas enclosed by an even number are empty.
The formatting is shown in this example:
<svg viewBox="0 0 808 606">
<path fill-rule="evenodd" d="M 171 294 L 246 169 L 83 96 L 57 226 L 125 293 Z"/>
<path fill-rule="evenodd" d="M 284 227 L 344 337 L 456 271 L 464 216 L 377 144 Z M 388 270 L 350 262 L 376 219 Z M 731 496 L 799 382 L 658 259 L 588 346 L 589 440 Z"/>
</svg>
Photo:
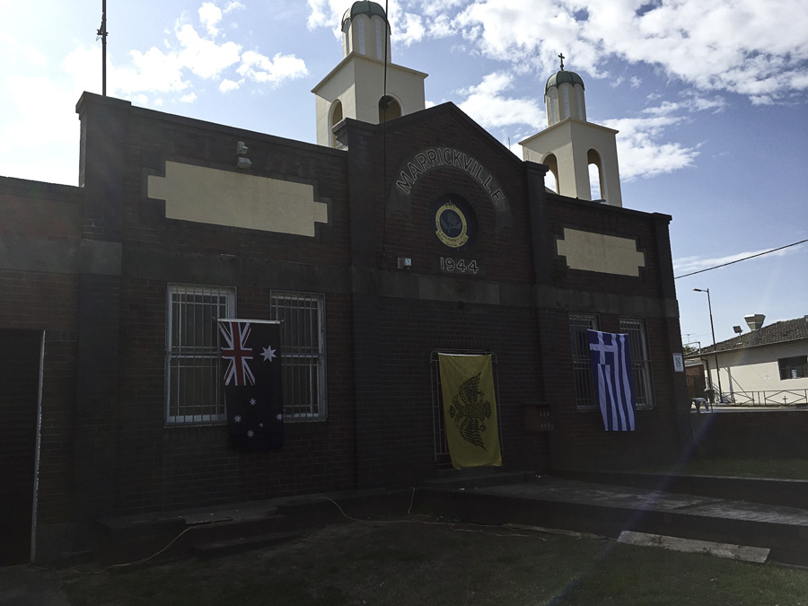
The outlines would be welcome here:
<svg viewBox="0 0 808 606">
<path fill-rule="evenodd" d="M 634 431 L 636 405 L 628 335 L 587 330 L 589 356 L 606 431 Z"/>
</svg>

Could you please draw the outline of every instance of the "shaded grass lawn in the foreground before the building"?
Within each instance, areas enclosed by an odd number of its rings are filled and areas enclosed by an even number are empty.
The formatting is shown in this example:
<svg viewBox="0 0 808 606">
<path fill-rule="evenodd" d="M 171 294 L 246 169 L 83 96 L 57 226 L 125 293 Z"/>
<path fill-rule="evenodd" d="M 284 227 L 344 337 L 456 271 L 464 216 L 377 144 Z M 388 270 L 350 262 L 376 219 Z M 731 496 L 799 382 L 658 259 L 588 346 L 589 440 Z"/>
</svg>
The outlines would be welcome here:
<svg viewBox="0 0 808 606">
<path fill-rule="evenodd" d="M 344 523 L 267 549 L 65 573 L 73 606 L 808 605 L 808 570 L 445 523 Z"/>
</svg>

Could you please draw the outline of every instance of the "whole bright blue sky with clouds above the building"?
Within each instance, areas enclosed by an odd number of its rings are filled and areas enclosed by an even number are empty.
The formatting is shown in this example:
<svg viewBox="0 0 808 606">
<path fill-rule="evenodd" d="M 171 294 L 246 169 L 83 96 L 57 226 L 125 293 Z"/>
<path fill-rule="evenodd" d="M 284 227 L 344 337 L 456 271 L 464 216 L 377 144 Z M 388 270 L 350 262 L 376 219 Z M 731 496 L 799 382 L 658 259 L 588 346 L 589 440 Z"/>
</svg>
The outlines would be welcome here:
<svg viewBox="0 0 808 606">
<path fill-rule="evenodd" d="M 108 0 L 108 94 L 314 142 L 312 87 L 351 0 Z M 382 6 L 384 2 L 382 1 Z M 672 215 L 675 275 L 808 239 L 804 0 L 394 0 L 392 61 L 426 72 L 515 154 L 547 77 L 584 78 L 619 129 L 623 206 Z M 0 0 L 0 175 L 75 185 L 83 90 L 101 92 L 101 0 Z M 676 280 L 683 341 L 808 314 L 808 244 Z"/>
</svg>

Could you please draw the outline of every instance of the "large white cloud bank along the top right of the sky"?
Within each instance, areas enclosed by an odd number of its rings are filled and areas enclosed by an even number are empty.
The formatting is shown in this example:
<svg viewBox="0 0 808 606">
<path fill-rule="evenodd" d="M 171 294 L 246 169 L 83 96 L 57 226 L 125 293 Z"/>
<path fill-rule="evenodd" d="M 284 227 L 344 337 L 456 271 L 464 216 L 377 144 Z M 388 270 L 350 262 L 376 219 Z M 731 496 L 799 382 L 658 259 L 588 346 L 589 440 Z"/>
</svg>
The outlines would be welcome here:
<svg viewBox="0 0 808 606">
<path fill-rule="evenodd" d="M 344 10 L 345 4 L 309 0 L 310 26 L 336 26 L 336 7 Z M 698 90 L 737 92 L 757 104 L 808 91 L 804 0 L 548 0 L 540 7 L 535 0 L 422 0 L 420 12 L 428 18 L 423 30 L 408 27 L 414 21 L 398 4 L 395 12 L 391 8 L 391 21 L 399 26 L 394 43 L 461 31 L 485 57 L 544 74 L 558 68 L 563 51 L 569 69 L 595 77 L 617 58 L 658 66 Z M 640 84 L 636 78 L 629 82 Z"/>
</svg>

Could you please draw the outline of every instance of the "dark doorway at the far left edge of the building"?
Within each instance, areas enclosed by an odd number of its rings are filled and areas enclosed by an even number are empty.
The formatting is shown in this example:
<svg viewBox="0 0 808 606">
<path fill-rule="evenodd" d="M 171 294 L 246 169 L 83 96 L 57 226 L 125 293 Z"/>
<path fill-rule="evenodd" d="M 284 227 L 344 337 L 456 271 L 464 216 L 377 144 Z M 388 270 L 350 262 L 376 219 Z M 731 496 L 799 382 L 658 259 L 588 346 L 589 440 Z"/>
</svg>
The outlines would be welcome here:
<svg viewBox="0 0 808 606">
<path fill-rule="evenodd" d="M 39 330 L 0 330 L 0 566 L 31 560 Z"/>
</svg>

